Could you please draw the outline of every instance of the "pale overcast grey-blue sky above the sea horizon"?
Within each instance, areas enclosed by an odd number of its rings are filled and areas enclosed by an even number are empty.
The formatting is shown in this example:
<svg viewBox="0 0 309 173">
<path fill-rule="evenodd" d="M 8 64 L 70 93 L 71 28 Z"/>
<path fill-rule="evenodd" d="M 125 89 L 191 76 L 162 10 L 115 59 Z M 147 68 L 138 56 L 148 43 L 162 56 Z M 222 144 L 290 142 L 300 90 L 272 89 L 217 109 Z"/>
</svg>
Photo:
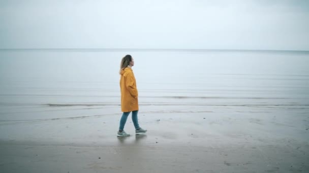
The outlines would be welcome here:
<svg viewBox="0 0 309 173">
<path fill-rule="evenodd" d="M 309 50 L 309 1 L 1 0 L 0 49 Z"/>
</svg>

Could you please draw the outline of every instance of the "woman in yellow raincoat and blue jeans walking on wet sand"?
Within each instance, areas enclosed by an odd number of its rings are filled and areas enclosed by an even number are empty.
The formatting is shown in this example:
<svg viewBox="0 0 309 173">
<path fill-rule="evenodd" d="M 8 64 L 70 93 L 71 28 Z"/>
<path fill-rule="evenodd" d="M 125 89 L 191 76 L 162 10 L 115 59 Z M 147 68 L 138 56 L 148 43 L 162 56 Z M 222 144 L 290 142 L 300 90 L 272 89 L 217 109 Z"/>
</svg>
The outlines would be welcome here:
<svg viewBox="0 0 309 173">
<path fill-rule="evenodd" d="M 126 55 L 122 58 L 120 63 L 120 91 L 121 91 L 121 111 L 123 112 L 119 131 L 117 132 L 118 137 L 127 137 L 127 134 L 123 131 L 127 118 L 132 112 L 132 121 L 135 127 L 136 135 L 144 134 L 147 130 L 141 128 L 138 125 L 137 113 L 138 113 L 138 92 L 136 88 L 136 81 L 133 74 L 132 67 L 134 66 L 134 60 L 131 55 Z"/>
</svg>

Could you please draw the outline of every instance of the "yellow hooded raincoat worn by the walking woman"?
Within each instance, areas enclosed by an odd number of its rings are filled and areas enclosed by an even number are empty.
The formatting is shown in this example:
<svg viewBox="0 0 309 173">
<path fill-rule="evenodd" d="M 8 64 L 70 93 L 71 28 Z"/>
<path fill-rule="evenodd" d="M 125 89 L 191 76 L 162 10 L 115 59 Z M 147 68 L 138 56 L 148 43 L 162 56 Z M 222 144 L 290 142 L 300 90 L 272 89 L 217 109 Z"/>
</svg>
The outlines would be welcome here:
<svg viewBox="0 0 309 173">
<path fill-rule="evenodd" d="M 120 72 L 121 111 L 138 110 L 138 91 L 133 70 L 129 67 Z"/>
</svg>

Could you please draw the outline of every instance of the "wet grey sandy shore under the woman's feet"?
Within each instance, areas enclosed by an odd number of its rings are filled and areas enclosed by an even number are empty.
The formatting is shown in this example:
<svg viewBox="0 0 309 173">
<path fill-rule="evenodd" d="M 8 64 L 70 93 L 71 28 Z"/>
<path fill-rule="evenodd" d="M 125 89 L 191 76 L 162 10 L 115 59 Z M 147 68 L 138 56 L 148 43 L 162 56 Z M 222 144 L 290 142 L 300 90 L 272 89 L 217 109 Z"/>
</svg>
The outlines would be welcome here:
<svg viewBox="0 0 309 173">
<path fill-rule="evenodd" d="M 142 105 L 130 137 L 119 106 L 45 106 L 71 115 L 1 121 L 1 172 L 309 171 L 305 105 Z"/>
</svg>

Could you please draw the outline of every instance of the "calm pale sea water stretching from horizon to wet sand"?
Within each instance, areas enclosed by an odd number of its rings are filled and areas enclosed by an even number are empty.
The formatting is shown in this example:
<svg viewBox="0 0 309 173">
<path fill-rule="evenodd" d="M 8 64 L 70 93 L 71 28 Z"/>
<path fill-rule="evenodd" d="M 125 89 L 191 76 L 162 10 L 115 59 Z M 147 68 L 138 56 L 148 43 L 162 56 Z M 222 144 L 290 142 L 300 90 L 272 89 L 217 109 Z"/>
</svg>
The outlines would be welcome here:
<svg viewBox="0 0 309 173">
<path fill-rule="evenodd" d="M 141 106 L 309 108 L 309 52 L 2 50 L 0 120 L 119 113 L 126 54 Z"/>
</svg>

